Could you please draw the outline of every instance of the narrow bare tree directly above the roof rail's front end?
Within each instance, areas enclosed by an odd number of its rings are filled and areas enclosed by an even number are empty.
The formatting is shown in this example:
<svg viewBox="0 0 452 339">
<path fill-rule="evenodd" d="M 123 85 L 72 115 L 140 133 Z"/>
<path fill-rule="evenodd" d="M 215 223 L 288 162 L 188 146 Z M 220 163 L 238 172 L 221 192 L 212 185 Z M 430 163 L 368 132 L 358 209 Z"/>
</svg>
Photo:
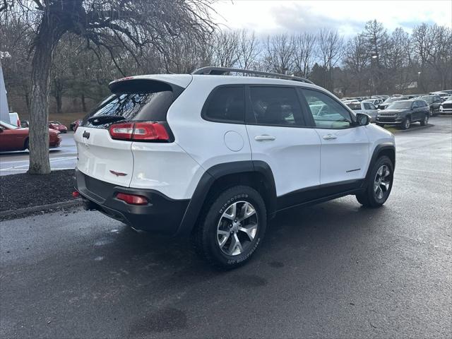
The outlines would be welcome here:
<svg viewBox="0 0 452 339">
<path fill-rule="evenodd" d="M 295 69 L 299 76 L 309 78 L 315 57 L 316 36 L 304 32 L 295 36 Z"/>
</svg>

